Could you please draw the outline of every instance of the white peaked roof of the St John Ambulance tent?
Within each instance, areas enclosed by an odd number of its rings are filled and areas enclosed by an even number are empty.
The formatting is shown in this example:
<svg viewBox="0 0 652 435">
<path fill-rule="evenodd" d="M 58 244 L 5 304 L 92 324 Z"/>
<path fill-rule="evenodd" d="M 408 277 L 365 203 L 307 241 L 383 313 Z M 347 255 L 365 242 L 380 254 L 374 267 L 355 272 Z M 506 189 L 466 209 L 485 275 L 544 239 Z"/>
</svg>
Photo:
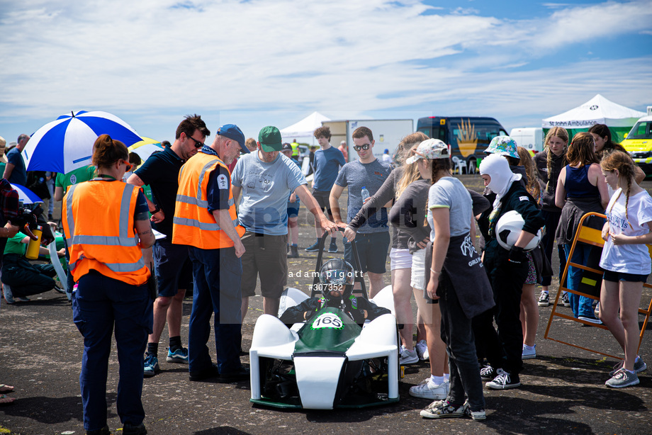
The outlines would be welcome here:
<svg viewBox="0 0 652 435">
<path fill-rule="evenodd" d="M 579 107 L 545 118 L 541 126 L 544 135 L 553 127 L 566 128 L 572 139 L 575 133 L 587 131 L 594 124 L 606 124 L 612 132 L 614 142 L 621 142 L 636 120 L 644 115 L 643 112 L 621 106 L 597 94 Z"/>
</svg>

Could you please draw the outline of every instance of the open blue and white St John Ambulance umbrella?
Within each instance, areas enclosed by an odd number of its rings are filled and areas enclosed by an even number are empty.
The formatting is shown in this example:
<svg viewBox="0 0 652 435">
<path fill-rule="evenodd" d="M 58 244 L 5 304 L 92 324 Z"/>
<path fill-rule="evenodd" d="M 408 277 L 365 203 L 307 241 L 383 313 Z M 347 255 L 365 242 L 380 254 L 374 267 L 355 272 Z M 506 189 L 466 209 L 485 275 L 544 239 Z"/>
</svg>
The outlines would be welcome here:
<svg viewBox="0 0 652 435">
<path fill-rule="evenodd" d="M 93 144 L 99 135 L 109 135 L 128 147 L 142 138 L 116 115 L 101 111 L 71 112 L 43 125 L 23 149 L 28 171 L 67 174 L 91 164 Z"/>
</svg>

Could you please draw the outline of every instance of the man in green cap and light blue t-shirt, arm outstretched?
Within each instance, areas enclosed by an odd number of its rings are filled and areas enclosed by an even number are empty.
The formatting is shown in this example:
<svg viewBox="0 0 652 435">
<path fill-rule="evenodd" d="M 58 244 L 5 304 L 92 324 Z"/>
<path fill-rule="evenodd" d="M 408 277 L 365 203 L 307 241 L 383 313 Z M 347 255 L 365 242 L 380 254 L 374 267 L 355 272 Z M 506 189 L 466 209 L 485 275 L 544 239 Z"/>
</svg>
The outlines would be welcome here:
<svg viewBox="0 0 652 435">
<path fill-rule="evenodd" d="M 317 225 L 332 234 L 337 225 L 327 220 L 317 200 L 306 187 L 301 169 L 280 151 L 281 132 L 271 125 L 258 135 L 258 150 L 238 160 L 231 182 L 233 196 L 240 203 L 240 224 L 247 230 L 242 236 L 242 318 L 254 295 L 257 277 L 263 295 L 265 314 L 276 316 L 281 293 L 288 282 L 288 196 L 296 193 Z"/>
</svg>

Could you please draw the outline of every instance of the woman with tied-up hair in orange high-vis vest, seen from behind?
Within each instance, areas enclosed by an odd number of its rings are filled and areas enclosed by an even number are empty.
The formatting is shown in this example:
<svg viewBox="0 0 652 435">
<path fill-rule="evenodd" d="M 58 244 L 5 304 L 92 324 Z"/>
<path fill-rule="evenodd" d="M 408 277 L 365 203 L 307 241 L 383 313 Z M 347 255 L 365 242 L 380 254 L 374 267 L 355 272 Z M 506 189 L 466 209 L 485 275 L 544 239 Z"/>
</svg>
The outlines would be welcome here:
<svg viewBox="0 0 652 435">
<path fill-rule="evenodd" d="M 130 170 L 123 142 L 101 135 L 93 146 L 97 177 L 70 186 L 62 221 L 68 240 L 72 320 L 84 337 L 81 403 L 86 434 L 109 433 L 106 376 L 115 333 L 120 363 L 118 415 L 123 434 L 147 434 L 142 424 L 142 354 L 152 333 L 150 270 L 142 249 L 154 244 L 145 195 L 122 178 Z"/>
</svg>

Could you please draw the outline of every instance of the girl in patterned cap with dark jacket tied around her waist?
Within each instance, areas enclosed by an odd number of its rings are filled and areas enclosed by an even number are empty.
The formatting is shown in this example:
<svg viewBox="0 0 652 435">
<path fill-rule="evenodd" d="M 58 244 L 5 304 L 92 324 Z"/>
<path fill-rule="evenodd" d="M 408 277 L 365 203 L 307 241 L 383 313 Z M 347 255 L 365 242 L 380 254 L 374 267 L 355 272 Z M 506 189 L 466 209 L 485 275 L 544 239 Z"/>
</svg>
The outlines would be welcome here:
<svg viewBox="0 0 652 435">
<path fill-rule="evenodd" d="M 429 147 L 425 149 L 422 145 L 427 142 Z M 433 229 L 432 259 L 426 261 L 429 272 L 424 297 L 439 301 L 441 335 L 449 355 L 450 371 L 446 399 L 433 402 L 421 415 L 426 418 L 469 415 L 483 420 L 485 400 L 471 319 L 489 310 L 494 302 L 487 274 L 469 234 L 473 220 L 471 196 L 451 176 L 450 152 L 444 142 L 427 140 L 418 151 L 420 170 L 432 166 L 434 183 L 428 195 L 428 222 Z"/>
</svg>

